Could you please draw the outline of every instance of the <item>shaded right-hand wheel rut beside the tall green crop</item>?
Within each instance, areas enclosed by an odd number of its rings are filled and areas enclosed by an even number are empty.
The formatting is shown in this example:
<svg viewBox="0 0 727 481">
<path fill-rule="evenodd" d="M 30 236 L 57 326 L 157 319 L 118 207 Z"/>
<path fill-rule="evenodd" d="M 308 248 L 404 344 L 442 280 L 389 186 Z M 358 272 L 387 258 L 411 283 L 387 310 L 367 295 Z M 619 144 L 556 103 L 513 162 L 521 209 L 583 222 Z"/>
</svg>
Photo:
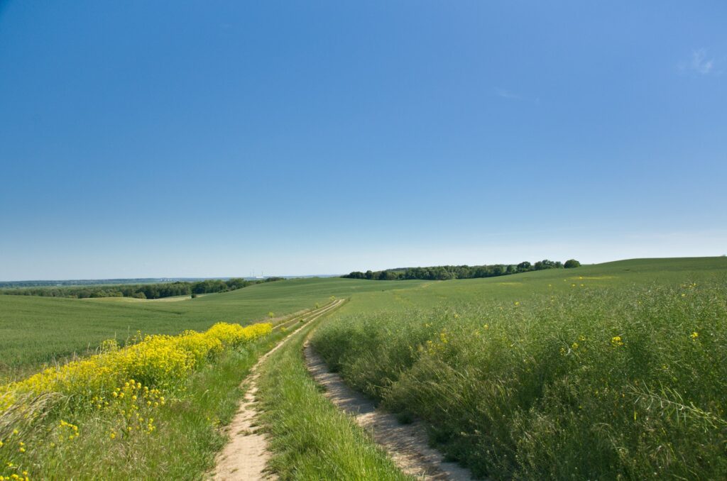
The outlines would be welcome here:
<svg viewBox="0 0 727 481">
<path fill-rule="evenodd" d="M 420 421 L 400 424 L 396 417 L 377 410 L 364 395 L 350 389 L 341 376 L 331 373 L 324 360 L 305 343 L 305 363 L 318 384 L 326 387 L 326 397 L 371 433 L 405 474 L 426 480 L 471 480 L 467 469 L 442 461 L 442 454 L 430 448 L 425 427 Z"/>
</svg>

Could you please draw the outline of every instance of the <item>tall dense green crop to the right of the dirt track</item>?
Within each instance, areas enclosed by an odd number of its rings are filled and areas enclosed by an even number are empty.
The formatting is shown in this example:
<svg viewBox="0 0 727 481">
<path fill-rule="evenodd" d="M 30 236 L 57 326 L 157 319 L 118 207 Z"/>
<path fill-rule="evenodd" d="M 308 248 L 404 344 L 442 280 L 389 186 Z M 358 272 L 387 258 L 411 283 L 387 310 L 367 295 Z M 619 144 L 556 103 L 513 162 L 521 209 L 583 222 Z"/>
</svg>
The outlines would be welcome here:
<svg viewBox="0 0 727 481">
<path fill-rule="evenodd" d="M 354 315 L 313 344 L 479 476 L 727 476 L 724 280 Z"/>
</svg>

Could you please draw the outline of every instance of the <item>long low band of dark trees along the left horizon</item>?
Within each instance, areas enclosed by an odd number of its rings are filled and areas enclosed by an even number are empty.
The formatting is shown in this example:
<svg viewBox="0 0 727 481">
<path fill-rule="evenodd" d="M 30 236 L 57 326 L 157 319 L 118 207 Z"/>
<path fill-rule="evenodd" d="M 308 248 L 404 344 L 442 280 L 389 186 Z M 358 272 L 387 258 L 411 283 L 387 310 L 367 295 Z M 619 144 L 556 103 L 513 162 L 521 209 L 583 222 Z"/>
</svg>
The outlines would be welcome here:
<svg viewBox="0 0 727 481">
<path fill-rule="evenodd" d="M 235 291 L 252 284 L 283 280 L 283 278 L 265 278 L 263 280 L 244 280 L 231 278 L 228 280 L 206 279 L 197 282 L 177 281 L 171 283 L 137 284 L 123 286 L 73 286 L 73 287 L 37 287 L 0 289 L 0 294 L 12 296 L 44 296 L 44 297 L 134 297 L 137 299 L 161 299 L 173 296 L 196 296 L 212 292 Z"/>
</svg>

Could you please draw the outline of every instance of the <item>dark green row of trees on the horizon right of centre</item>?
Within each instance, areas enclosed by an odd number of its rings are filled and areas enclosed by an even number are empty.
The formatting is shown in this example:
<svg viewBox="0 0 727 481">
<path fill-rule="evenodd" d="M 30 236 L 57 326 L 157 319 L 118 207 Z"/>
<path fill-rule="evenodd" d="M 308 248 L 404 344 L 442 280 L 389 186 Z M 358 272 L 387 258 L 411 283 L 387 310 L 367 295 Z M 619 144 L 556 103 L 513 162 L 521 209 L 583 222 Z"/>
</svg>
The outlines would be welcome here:
<svg viewBox="0 0 727 481">
<path fill-rule="evenodd" d="M 520 264 L 492 264 L 492 265 L 441 265 L 434 267 L 403 267 L 399 269 L 387 269 L 366 272 L 354 271 L 342 275 L 342 278 L 370 279 L 370 280 L 448 280 L 448 279 L 474 279 L 493 278 L 498 275 L 518 274 L 519 272 L 530 272 L 533 270 L 545 269 L 570 269 L 581 265 L 576 259 L 569 259 L 566 262 L 553 262 L 543 259 L 535 264 L 521 262 Z"/>
</svg>

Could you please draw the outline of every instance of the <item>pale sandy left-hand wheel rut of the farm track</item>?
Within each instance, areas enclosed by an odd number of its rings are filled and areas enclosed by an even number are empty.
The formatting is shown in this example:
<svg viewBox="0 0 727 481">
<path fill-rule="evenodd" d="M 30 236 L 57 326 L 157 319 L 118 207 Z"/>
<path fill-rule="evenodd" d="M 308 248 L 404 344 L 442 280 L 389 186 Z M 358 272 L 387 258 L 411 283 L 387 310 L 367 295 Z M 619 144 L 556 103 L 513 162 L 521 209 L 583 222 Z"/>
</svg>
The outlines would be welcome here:
<svg viewBox="0 0 727 481">
<path fill-rule="evenodd" d="M 343 299 L 335 300 L 317 310 L 310 311 L 300 318 L 294 318 L 286 326 L 298 324 L 302 326 L 312 320 L 316 320 L 329 310 L 339 307 Z M 303 322 L 300 322 L 300 321 Z M 293 333 L 291 333 L 293 334 Z M 275 477 L 265 473 L 265 465 L 270 457 L 268 454 L 268 440 L 264 433 L 257 431 L 257 408 L 255 406 L 255 393 L 257 392 L 257 377 L 259 368 L 268 357 L 276 352 L 288 339 L 290 335 L 278 342 L 276 347 L 270 349 L 252 367 L 249 376 L 243 381 L 242 386 L 246 387 L 244 400 L 233 418 L 232 422 L 225 429 L 230 435 L 230 441 L 222 452 L 217 456 L 216 467 L 212 479 L 214 480 L 271 480 Z"/>
</svg>

